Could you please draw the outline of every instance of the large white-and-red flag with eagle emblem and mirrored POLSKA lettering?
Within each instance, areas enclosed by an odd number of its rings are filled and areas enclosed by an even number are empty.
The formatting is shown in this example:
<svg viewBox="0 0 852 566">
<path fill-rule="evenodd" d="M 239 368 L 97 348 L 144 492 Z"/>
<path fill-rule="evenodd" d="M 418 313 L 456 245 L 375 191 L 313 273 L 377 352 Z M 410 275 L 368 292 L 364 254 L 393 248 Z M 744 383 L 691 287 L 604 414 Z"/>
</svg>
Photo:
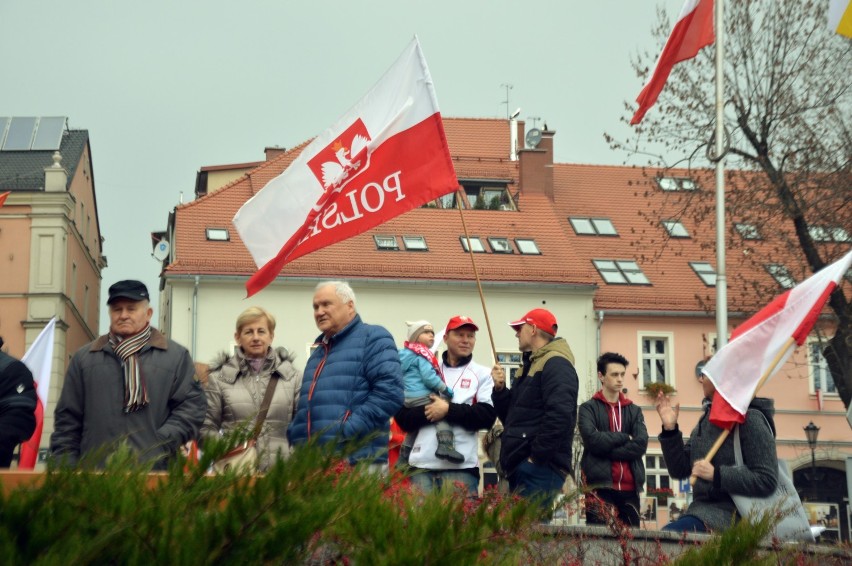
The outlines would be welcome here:
<svg viewBox="0 0 852 566">
<path fill-rule="evenodd" d="M 444 125 L 415 37 L 370 91 L 234 216 L 260 268 L 251 296 L 305 254 L 456 190 Z"/>
</svg>

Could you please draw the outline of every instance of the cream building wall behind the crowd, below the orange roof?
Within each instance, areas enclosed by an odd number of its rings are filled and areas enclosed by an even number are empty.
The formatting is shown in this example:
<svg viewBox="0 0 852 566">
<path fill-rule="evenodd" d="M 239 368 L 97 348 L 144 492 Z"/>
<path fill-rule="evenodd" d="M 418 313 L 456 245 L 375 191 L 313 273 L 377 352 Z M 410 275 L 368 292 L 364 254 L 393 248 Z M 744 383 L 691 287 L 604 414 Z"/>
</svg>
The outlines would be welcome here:
<svg viewBox="0 0 852 566">
<path fill-rule="evenodd" d="M 277 319 L 274 345 L 296 354 L 295 365 L 303 368 L 309 349 L 319 331 L 314 324 L 312 300 L 316 280 L 274 283 L 250 299 L 245 299 L 243 281 L 201 277 L 198 284 L 198 314 L 193 323 L 194 278 L 166 281 L 170 309 L 161 312 L 160 323 L 177 342 L 186 346 L 196 361 L 209 362 L 220 351 L 234 347 L 234 324 L 246 308 L 257 305 Z M 370 324 L 384 326 L 398 345 L 405 340 L 406 320 L 426 319 L 436 330 L 450 317 L 464 314 L 479 326 L 474 359 L 493 363 L 482 303 L 473 283 L 443 281 L 350 280 L 355 290 L 356 308 Z M 498 351 L 517 351 L 517 339 L 507 325 L 534 308 L 546 308 L 559 321 L 559 335 L 571 346 L 580 377 L 580 398 L 594 383 L 597 357 L 596 321 L 592 305 L 593 289 L 567 285 L 524 285 L 484 283 L 488 317 Z M 162 295 L 162 294 L 161 294 Z M 197 340 L 193 340 L 193 327 Z"/>
</svg>

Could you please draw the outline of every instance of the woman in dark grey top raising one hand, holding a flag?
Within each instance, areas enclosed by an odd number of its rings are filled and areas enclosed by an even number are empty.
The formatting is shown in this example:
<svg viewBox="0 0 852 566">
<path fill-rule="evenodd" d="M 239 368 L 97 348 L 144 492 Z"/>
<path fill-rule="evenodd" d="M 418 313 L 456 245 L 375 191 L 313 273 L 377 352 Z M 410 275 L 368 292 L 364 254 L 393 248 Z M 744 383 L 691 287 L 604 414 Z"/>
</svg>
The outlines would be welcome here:
<svg viewBox="0 0 852 566">
<path fill-rule="evenodd" d="M 754 398 L 745 423 L 739 425 L 744 465 L 735 464 L 733 436 L 725 439 L 711 462 L 706 455 L 725 429 L 710 422 L 716 392 L 713 382 L 703 374 L 698 380 L 704 391 L 704 414 L 689 440 L 684 442 L 678 428 L 680 405 L 672 405 L 662 392 L 655 402 L 663 423 L 660 445 L 669 475 L 675 479 L 696 477 L 692 503 L 679 519 L 663 527 L 664 531 L 722 531 L 731 526 L 734 518 L 740 518 L 731 494 L 766 497 L 775 491 L 778 481 L 772 399 Z"/>
</svg>

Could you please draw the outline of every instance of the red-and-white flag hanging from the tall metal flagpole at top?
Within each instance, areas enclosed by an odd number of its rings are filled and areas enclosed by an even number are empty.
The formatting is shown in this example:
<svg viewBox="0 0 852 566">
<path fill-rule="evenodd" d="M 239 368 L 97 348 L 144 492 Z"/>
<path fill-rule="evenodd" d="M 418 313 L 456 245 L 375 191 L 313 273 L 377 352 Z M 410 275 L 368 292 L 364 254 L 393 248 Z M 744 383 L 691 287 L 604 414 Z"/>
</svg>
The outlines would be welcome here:
<svg viewBox="0 0 852 566">
<path fill-rule="evenodd" d="M 681 61 L 692 59 L 713 41 L 713 0 L 686 0 L 654 72 L 636 98 L 639 108 L 630 120 L 631 125 L 641 122 L 645 112 L 657 102 L 672 68 Z"/>
</svg>

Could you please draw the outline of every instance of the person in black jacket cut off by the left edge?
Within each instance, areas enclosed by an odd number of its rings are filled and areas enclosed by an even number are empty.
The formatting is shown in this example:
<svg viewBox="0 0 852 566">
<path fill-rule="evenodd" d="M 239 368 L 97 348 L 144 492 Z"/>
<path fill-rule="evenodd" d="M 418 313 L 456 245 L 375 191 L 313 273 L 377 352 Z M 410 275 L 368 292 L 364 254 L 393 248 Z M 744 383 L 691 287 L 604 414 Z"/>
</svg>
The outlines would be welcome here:
<svg viewBox="0 0 852 566">
<path fill-rule="evenodd" d="M 32 436 L 36 400 L 33 374 L 23 362 L 0 351 L 0 468 L 8 468 L 15 446 Z"/>
</svg>

